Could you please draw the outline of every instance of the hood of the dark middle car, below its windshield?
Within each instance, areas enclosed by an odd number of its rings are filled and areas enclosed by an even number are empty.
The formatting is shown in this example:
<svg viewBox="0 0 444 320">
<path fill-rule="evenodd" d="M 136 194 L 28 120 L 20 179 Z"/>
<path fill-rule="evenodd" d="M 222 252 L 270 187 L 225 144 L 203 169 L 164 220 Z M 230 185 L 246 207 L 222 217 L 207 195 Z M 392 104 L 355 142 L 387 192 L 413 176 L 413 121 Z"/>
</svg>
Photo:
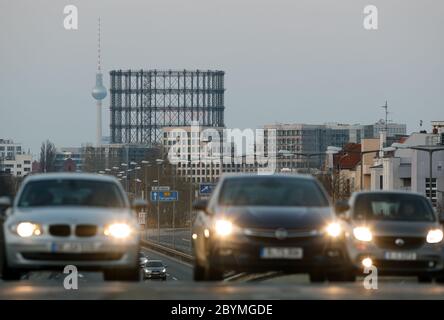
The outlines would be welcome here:
<svg viewBox="0 0 444 320">
<path fill-rule="evenodd" d="M 219 208 L 217 217 L 226 217 L 243 228 L 312 230 L 333 219 L 329 207 L 230 207 Z"/>
</svg>

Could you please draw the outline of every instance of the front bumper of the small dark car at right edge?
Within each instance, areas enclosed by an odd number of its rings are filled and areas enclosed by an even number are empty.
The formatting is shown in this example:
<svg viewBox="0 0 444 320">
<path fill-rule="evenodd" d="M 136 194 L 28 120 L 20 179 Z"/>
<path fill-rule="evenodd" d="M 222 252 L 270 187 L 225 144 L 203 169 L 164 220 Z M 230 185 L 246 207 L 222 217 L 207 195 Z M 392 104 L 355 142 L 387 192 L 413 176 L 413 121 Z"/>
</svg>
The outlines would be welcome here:
<svg viewBox="0 0 444 320">
<path fill-rule="evenodd" d="M 393 250 L 380 248 L 376 245 L 352 243 L 347 246 L 350 260 L 359 272 L 364 271 L 362 260 L 370 258 L 373 265 L 381 275 L 418 275 L 422 273 L 435 273 L 443 269 L 443 259 L 440 245 L 425 244 L 414 250 Z M 400 256 L 396 259 L 389 258 L 388 254 L 396 252 Z M 405 255 L 413 258 L 403 258 Z"/>
</svg>

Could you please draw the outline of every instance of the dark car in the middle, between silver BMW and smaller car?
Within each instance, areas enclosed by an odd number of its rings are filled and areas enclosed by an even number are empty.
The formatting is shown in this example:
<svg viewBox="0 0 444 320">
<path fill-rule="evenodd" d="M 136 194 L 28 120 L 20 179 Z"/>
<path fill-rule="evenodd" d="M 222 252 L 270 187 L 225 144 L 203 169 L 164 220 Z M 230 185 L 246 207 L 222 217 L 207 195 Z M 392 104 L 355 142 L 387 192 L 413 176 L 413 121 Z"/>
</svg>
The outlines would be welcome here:
<svg viewBox="0 0 444 320">
<path fill-rule="evenodd" d="M 223 176 L 194 203 L 194 279 L 226 271 L 308 273 L 312 282 L 353 280 L 341 225 L 324 189 L 301 175 Z"/>
</svg>

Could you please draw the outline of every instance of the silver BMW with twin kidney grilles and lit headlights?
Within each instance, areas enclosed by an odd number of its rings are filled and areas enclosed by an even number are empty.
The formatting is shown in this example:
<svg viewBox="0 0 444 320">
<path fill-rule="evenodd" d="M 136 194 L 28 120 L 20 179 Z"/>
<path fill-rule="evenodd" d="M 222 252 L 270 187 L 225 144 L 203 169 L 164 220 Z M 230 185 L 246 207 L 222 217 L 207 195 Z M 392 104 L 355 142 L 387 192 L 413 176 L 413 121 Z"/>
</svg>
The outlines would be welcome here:
<svg viewBox="0 0 444 320">
<path fill-rule="evenodd" d="M 135 212 L 111 176 L 27 177 L 3 217 L 0 245 L 4 280 L 19 279 L 27 271 L 63 270 L 66 265 L 103 271 L 105 280 L 136 281 L 140 276 Z"/>
</svg>

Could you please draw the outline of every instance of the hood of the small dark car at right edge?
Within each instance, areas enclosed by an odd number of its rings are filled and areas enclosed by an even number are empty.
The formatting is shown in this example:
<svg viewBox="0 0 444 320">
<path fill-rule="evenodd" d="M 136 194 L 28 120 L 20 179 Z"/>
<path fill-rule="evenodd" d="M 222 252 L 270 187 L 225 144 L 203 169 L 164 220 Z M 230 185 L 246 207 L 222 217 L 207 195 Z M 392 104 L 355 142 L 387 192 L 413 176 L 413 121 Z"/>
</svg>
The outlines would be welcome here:
<svg viewBox="0 0 444 320">
<path fill-rule="evenodd" d="M 441 228 L 438 222 L 417 221 L 354 221 L 353 226 L 367 226 L 377 236 L 426 236 L 430 229 Z"/>
</svg>

